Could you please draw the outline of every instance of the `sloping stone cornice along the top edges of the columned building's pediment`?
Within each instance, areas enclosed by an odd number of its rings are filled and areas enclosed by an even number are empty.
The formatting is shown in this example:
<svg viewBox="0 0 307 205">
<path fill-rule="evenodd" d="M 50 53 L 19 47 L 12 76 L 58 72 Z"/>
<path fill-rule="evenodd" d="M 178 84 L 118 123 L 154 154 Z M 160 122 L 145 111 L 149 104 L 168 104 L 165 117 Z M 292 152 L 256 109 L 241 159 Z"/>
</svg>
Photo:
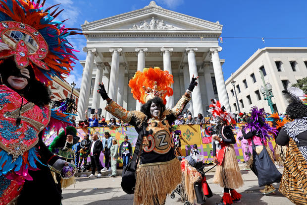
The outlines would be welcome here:
<svg viewBox="0 0 307 205">
<path fill-rule="evenodd" d="M 175 12 L 175 11 L 171 11 L 171 10 L 167 10 L 167 9 L 159 8 L 159 7 L 155 7 L 155 6 L 145 7 L 145 8 L 134 10 L 134 11 L 131 11 L 131 12 L 127 12 L 127 13 L 119 14 L 119 15 L 116 15 L 116 16 L 104 18 L 104 19 L 101 19 L 101 20 L 85 23 L 85 24 L 81 25 L 81 27 L 82 27 L 83 30 L 92 29 L 92 28 L 95 28 L 97 26 L 102 26 L 102 25 L 106 25 L 106 24 L 109 24 L 109 23 L 114 23 L 116 21 L 120 21 L 120 20 L 123 20 L 123 19 L 131 18 L 131 17 L 135 17 L 135 16 L 139 16 L 139 15 L 143 15 L 143 14 L 151 13 L 151 12 L 168 15 L 168 16 L 171 16 L 171 17 L 178 18 L 180 20 L 184 20 L 186 22 L 196 23 L 196 24 L 199 24 L 201 26 L 208 26 L 208 27 L 211 27 L 211 28 L 215 28 L 216 30 L 222 30 L 222 28 L 223 28 L 223 26 L 219 23 L 213 23 L 213 22 L 210 22 L 210 21 L 206 21 L 204 19 L 192 17 L 192 16 L 189 16 L 189 15 L 185 15 L 185 14 L 182 14 L 182 13 L 178 13 L 178 12 Z"/>
</svg>

